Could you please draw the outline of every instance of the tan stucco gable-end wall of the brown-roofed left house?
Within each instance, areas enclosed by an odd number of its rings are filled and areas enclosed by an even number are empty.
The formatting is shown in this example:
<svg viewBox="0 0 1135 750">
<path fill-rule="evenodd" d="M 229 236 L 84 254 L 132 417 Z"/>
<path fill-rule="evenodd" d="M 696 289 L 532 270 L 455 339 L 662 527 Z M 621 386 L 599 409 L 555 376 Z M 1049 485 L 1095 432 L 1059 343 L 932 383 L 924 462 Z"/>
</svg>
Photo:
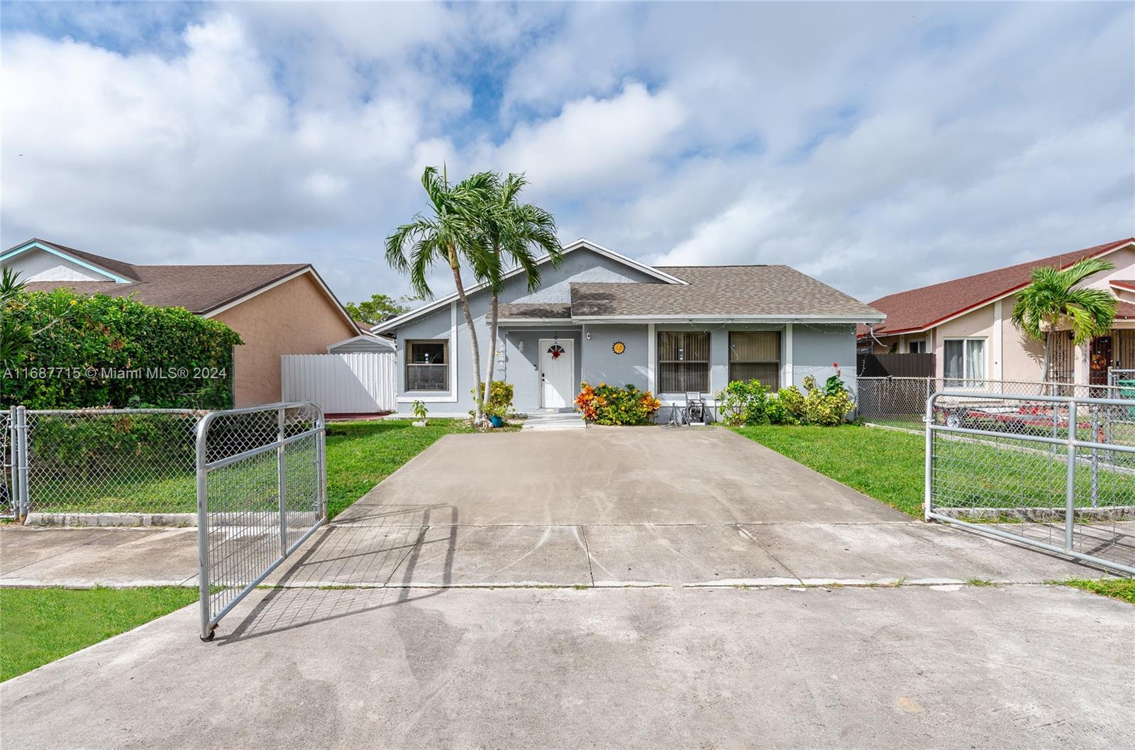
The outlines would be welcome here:
<svg viewBox="0 0 1135 750">
<path fill-rule="evenodd" d="M 310 273 L 213 319 L 244 340 L 233 355 L 238 407 L 280 399 L 281 354 L 326 354 L 328 344 L 358 335 Z"/>
</svg>

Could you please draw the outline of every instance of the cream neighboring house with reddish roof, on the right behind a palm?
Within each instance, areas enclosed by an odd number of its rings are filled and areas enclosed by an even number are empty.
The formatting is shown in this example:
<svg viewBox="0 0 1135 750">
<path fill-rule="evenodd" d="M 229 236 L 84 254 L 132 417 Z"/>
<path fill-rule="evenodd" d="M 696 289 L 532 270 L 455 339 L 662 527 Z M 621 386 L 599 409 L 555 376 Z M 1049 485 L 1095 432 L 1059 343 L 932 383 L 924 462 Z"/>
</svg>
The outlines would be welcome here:
<svg viewBox="0 0 1135 750">
<path fill-rule="evenodd" d="M 1046 379 L 1107 384 L 1109 366 L 1135 368 L 1135 237 L 875 300 L 871 305 L 886 313 L 886 321 L 860 327 L 860 351 L 933 353 L 939 378 L 1042 380 L 1044 343 L 1012 325 L 1016 295 L 1028 286 L 1034 268 L 1068 268 L 1084 258 L 1107 259 L 1116 267 L 1085 281 L 1119 301 L 1115 327 L 1079 347 L 1070 332 L 1052 337 Z"/>
</svg>

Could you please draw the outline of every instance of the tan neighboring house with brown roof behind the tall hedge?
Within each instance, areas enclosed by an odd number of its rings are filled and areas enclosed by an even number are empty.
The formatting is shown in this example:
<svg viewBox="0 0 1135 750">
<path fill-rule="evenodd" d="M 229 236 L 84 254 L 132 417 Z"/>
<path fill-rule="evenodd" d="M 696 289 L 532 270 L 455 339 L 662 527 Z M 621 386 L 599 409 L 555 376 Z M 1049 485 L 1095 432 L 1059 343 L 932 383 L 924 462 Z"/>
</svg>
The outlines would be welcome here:
<svg viewBox="0 0 1135 750">
<path fill-rule="evenodd" d="M 361 331 L 309 263 L 136 266 L 28 239 L 0 254 L 25 288 L 133 296 L 219 320 L 244 340 L 233 354 L 237 406 L 280 399 L 280 355 L 325 354 Z"/>
</svg>

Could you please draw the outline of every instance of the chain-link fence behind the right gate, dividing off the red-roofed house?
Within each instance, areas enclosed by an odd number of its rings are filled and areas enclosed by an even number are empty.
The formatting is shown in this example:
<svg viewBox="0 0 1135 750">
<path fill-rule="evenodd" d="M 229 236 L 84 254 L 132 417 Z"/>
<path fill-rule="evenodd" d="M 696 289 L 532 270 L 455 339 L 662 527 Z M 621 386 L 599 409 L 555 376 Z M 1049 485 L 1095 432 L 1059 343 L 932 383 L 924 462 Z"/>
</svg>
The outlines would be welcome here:
<svg viewBox="0 0 1135 750">
<path fill-rule="evenodd" d="M 925 427 L 926 401 L 939 390 L 1008 396 L 1075 396 L 1133 398 L 1135 388 L 1026 380 L 959 380 L 955 378 L 856 378 L 856 415 L 873 424 L 918 430 Z"/>
</svg>

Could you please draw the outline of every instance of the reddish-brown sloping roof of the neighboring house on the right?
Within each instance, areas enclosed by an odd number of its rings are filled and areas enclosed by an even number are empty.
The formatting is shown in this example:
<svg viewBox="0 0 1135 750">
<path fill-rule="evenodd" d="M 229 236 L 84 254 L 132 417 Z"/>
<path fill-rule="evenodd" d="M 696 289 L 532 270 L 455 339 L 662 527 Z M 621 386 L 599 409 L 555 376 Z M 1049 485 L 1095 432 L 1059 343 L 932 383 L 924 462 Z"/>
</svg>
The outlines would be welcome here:
<svg viewBox="0 0 1135 750">
<path fill-rule="evenodd" d="M 892 335 L 933 328 L 1028 286 L 1034 268 L 1068 268 L 1085 258 L 1099 258 L 1133 244 L 1135 237 L 1127 237 L 880 297 L 871 305 L 886 313 L 886 322 L 876 326 L 874 331 L 876 335 Z"/>
</svg>

